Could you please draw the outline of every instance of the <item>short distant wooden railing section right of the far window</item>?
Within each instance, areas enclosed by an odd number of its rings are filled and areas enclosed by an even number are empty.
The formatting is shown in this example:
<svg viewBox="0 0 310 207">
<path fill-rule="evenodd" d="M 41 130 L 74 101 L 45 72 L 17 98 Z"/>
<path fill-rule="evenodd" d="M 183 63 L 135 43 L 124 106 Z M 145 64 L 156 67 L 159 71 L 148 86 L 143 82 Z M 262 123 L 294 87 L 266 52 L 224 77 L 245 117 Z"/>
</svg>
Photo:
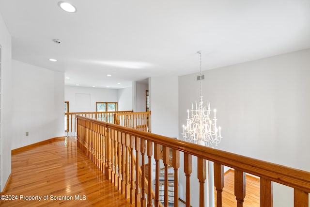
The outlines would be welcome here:
<svg viewBox="0 0 310 207">
<path fill-rule="evenodd" d="M 136 128 L 138 130 L 151 132 L 149 124 L 151 111 L 132 112 L 132 113 L 115 113 L 115 123 L 123 127 Z"/>
</svg>

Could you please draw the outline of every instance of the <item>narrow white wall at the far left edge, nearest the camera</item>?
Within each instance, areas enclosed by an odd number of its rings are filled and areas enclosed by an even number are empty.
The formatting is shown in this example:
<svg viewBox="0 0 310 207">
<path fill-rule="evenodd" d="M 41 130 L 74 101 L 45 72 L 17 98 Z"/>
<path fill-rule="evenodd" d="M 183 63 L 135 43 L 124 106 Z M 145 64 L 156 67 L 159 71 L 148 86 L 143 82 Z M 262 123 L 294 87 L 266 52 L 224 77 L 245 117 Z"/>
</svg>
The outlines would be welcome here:
<svg viewBox="0 0 310 207">
<path fill-rule="evenodd" d="M 0 141 L 0 191 L 3 190 L 11 174 L 11 140 L 12 140 L 12 47 L 11 35 L 0 14 L 1 50 L 1 141 Z"/>
</svg>

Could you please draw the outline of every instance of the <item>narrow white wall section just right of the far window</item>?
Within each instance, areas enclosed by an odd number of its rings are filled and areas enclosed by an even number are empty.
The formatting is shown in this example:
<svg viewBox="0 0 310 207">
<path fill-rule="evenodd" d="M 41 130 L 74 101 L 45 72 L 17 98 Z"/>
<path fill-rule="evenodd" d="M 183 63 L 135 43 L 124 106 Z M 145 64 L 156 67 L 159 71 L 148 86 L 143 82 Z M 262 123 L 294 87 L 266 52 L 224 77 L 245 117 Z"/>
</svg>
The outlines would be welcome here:
<svg viewBox="0 0 310 207">
<path fill-rule="evenodd" d="M 131 111 L 132 109 L 132 87 L 118 89 L 118 111 Z"/>
</svg>

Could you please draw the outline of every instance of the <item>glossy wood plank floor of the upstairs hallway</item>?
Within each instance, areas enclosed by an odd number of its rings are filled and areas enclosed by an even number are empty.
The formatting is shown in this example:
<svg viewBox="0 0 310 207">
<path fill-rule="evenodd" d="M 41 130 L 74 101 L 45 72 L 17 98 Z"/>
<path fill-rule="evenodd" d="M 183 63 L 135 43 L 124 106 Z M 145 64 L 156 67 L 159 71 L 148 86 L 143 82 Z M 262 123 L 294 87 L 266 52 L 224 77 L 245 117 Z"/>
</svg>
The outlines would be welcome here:
<svg viewBox="0 0 310 207">
<path fill-rule="evenodd" d="M 12 180 L 3 194 L 17 199 L 2 200 L 1 207 L 134 206 L 80 151 L 75 138 L 12 155 Z M 28 201 L 26 196 L 41 196 L 41 201 Z"/>
</svg>

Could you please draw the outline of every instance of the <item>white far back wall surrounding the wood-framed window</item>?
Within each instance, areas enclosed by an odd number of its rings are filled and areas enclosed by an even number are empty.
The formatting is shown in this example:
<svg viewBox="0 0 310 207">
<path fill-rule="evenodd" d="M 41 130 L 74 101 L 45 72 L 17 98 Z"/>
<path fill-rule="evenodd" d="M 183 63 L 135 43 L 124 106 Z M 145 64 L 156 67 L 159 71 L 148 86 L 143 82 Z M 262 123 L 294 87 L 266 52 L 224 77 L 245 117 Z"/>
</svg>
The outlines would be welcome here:
<svg viewBox="0 0 310 207">
<path fill-rule="evenodd" d="M 65 86 L 64 99 L 69 101 L 70 112 L 96 111 L 96 102 L 117 102 L 117 91 L 117 89 Z M 83 98 L 83 102 L 77 101 L 79 97 Z"/>
</svg>

